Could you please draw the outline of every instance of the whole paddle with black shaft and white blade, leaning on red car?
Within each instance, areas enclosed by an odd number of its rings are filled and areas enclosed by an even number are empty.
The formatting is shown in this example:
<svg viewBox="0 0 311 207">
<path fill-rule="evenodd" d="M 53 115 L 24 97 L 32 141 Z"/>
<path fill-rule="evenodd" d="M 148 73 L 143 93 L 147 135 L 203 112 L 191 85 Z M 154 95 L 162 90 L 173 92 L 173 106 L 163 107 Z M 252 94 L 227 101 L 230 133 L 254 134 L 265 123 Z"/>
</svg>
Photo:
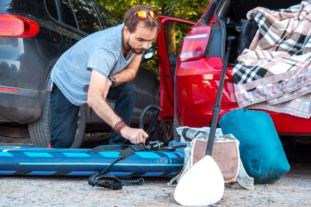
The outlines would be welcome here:
<svg viewBox="0 0 311 207">
<path fill-rule="evenodd" d="M 188 170 L 188 172 L 180 179 L 175 189 L 174 198 L 181 205 L 211 205 L 219 201 L 224 194 L 224 178 L 217 163 L 211 157 L 211 154 L 220 112 L 220 103 L 224 89 L 231 44 L 235 39 L 236 37 L 233 36 L 227 37 L 228 47 L 226 49 L 224 65 L 222 67 L 216 104 L 213 107 L 213 118 L 205 157 Z"/>
</svg>

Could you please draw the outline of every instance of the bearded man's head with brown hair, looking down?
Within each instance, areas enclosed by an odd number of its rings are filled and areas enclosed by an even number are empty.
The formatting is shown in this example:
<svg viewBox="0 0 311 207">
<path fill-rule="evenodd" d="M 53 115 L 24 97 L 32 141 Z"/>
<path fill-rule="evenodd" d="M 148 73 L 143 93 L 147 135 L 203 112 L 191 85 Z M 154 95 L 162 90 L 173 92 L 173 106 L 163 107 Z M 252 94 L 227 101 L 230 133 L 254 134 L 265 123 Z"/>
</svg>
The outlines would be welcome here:
<svg viewBox="0 0 311 207">
<path fill-rule="evenodd" d="M 138 11 L 148 11 L 146 19 L 140 19 Z M 156 39 L 161 24 L 159 19 L 151 17 L 150 11 L 154 8 L 147 5 L 139 5 L 129 9 L 124 15 L 124 34 L 126 35 L 126 44 L 134 53 L 142 54 L 148 46 Z"/>
</svg>

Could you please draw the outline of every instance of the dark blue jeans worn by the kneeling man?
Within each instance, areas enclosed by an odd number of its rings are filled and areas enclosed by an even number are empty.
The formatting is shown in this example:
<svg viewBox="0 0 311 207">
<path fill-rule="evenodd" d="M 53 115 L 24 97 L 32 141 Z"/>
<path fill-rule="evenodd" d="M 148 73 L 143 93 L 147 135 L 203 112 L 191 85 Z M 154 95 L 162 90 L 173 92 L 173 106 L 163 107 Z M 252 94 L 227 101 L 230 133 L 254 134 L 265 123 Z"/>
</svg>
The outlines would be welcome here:
<svg viewBox="0 0 311 207">
<path fill-rule="evenodd" d="M 133 115 L 136 86 L 133 82 L 125 83 L 109 89 L 107 98 L 115 100 L 115 113 L 130 126 Z M 57 85 L 50 94 L 51 100 L 51 146 L 53 148 L 69 148 L 77 131 L 80 106 L 72 104 L 59 90 Z M 122 145 L 127 142 L 121 135 L 111 130 L 109 145 Z"/>
</svg>

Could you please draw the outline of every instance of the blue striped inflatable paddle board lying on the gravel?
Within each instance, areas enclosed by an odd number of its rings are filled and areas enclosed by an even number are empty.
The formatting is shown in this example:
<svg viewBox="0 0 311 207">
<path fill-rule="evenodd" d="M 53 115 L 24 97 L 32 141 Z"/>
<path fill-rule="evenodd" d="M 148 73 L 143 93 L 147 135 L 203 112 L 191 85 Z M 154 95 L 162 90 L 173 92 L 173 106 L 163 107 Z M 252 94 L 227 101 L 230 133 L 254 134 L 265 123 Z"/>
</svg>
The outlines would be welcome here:
<svg viewBox="0 0 311 207">
<path fill-rule="evenodd" d="M 91 175 L 108 167 L 129 146 L 103 145 L 93 149 L 0 146 L 0 174 Z M 117 177 L 166 177 L 177 175 L 182 168 L 183 153 L 142 151 L 118 161 L 105 173 Z"/>
</svg>

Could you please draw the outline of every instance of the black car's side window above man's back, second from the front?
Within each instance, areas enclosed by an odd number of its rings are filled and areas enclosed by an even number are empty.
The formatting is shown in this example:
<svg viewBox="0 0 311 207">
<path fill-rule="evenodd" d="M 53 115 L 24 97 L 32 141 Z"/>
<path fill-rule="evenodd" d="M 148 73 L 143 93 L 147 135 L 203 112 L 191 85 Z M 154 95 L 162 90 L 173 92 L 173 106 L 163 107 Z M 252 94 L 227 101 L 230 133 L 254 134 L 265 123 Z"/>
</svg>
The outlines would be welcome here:
<svg viewBox="0 0 311 207">
<path fill-rule="evenodd" d="M 100 22 L 90 1 L 74 0 L 71 4 L 81 31 L 92 34 L 101 30 Z"/>
</svg>

